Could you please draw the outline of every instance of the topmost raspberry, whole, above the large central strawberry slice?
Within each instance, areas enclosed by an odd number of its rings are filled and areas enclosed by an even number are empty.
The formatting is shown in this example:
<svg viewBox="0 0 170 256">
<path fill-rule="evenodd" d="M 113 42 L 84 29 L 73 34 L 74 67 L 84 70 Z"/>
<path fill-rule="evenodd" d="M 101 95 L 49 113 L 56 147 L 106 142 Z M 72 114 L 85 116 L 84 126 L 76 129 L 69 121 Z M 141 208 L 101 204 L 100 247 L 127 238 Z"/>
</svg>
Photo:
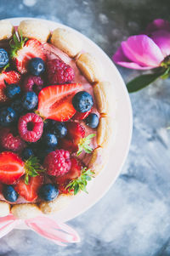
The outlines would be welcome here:
<svg viewBox="0 0 170 256">
<path fill-rule="evenodd" d="M 54 59 L 47 63 L 48 82 L 50 84 L 63 84 L 74 79 L 74 71 L 63 60 Z"/>
</svg>

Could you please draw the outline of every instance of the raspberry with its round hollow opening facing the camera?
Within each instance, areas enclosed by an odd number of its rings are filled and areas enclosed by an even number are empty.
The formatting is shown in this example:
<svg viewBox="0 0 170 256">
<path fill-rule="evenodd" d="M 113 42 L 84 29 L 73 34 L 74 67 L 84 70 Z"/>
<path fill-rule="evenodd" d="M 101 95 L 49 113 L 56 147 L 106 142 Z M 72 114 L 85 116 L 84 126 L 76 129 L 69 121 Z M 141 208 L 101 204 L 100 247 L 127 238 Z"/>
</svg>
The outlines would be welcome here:
<svg viewBox="0 0 170 256">
<path fill-rule="evenodd" d="M 42 136 L 42 117 L 34 113 L 27 113 L 19 119 L 18 129 L 20 137 L 28 142 L 36 142 Z"/>
</svg>

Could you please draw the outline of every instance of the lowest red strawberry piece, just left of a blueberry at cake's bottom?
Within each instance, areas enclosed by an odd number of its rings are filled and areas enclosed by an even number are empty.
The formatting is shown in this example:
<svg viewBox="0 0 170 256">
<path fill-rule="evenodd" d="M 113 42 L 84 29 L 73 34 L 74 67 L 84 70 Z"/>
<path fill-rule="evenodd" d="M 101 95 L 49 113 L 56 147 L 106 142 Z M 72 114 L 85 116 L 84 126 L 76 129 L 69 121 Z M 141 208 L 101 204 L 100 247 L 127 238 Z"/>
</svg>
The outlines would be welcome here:
<svg viewBox="0 0 170 256">
<path fill-rule="evenodd" d="M 28 185 L 26 185 L 25 179 L 21 178 L 19 182 L 14 186 L 14 189 L 19 193 L 20 196 L 24 197 L 26 201 L 33 202 L 37 199 L 38 191 L 42 184 L 42 175 L 31 177 L 29 179 Z"/>
</svg>

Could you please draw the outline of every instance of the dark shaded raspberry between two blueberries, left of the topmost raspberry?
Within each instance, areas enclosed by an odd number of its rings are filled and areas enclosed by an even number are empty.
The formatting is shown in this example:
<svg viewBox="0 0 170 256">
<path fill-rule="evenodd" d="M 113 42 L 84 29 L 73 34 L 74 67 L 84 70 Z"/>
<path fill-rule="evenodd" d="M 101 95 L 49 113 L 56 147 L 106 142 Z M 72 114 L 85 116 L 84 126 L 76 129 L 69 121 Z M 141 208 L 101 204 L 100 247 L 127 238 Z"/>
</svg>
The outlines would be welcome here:
<svg viewBox="0 0 170 256">
<path fill-rule="evenodd" d="M 22 89 L 25 92 L 35 91 L 35 93 L 38 94 L 43 88 L 43 85 L 44 82 L 42 80 L 42 77 L 28 76 L 23 82 Z"/>
</svg>

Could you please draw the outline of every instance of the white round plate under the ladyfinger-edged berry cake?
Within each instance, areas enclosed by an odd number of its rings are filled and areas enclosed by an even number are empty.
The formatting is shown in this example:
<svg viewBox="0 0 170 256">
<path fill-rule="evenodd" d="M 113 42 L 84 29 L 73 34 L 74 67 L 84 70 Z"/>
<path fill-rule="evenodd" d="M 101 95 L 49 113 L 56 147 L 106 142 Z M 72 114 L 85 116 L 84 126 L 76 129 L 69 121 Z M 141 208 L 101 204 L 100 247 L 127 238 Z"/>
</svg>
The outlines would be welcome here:
<svg viewBox="0 0 170 256">
<path fill-rule="evenodd" d="M 14 18 L 8 19 L 14 26 L 18 26 L 21 20 L 28 20 L 32 18 Z M 40 20 L 40 19 L 38 19 Z M 114 86 L 114 99 L 116 99 L 116 136 L 111 146 L 110 161 L 105 170 L 94 179 L 94 182 L 88 188 L 88 195 L 81 193 L 72 199 L 71 204 L 55 214 L 55 219 L 65 222 L 77 217 L 77 215 L 88 210 L 95 202 L 105 195 L 111 185 L 115 182 L 118 174 L 120 174 L 122 165 L 126 160 L 127 152 L 132 137 L 133 117 L 132 107 L 127 93 L 127 88 L 122 80 L 122 77 L 117 71 L 116 66 L 105 52 L 99 48 L 88 37 L 83 36 L 80 32 L 74 29 L 56 23 L 50 20 L 45 21 L 51 30 L 56 27 L 64 27 L 77 33 L 84 42 L 83 49 L 87 52 L 94 54 L 105 67 L 105 80 L 110 81 Z"/>
</svg>

